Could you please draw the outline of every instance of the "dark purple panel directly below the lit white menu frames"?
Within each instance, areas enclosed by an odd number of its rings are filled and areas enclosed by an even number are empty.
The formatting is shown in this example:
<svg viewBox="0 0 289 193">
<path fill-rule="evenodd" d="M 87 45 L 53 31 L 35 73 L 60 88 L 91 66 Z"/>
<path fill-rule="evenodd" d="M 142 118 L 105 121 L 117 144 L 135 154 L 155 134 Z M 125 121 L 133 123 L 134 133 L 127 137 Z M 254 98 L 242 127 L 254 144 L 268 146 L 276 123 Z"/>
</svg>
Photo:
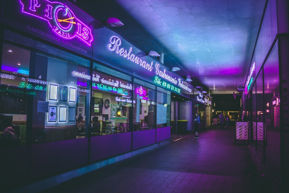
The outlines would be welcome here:
<svg viewBox="0 0 289 193">
<path fill-rule="evenodd" d="M 32 146 L 32 177 L 49 176 L 83 166 L 88 160 L 88 138 Z"/>
</svg>

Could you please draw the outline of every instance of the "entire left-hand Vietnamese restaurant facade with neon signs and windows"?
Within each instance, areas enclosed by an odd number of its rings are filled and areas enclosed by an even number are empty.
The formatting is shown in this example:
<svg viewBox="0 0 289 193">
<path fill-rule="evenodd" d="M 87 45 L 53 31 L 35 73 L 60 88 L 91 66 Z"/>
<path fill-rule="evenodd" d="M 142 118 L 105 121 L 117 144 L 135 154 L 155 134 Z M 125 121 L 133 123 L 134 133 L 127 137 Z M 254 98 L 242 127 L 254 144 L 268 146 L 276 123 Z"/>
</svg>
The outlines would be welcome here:
<svg viewBox="0 0 289 193">
<path fill-rule="evenodd" d="M 169 143 L 173 111 L 186 131 L 195 111 L 211 113 L 211 99 L 198 97 L 196 110 L 191 84 L 69 1 L 1 9 L 0 114 L 20 132 L 19 146 L 0 148 L 4 188 L 55 176 L 57 185 Z M 186 113 L 172 93 L 191 102 Z"/>
</svg>

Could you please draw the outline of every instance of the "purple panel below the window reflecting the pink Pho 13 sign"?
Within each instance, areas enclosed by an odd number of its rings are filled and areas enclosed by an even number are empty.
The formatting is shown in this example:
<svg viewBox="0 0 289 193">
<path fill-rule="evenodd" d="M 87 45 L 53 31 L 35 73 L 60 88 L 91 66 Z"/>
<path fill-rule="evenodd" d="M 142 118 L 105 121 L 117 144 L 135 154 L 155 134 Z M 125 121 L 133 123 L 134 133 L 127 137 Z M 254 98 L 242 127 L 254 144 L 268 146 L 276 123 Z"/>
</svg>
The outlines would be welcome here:
<svg viewBox="0 0 289 193">
<path fill-rule="evenodd" d="M 132 136 L 133 150 L 155 144 L 155 129 L 135 131 Z"/>
</svg>

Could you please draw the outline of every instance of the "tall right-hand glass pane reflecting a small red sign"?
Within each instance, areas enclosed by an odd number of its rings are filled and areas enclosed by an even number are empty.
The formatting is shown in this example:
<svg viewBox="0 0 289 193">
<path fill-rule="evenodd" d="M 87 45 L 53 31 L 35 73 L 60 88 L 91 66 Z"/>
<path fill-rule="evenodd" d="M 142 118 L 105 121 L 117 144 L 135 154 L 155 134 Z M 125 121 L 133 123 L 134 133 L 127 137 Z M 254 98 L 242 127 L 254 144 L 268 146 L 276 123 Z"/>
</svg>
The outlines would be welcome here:
<svg viewBox="0 0 289 193">
<path fill-rule="evenodd" d="M 278 43 L 273 47 L 266 63 L 264 64 L 264 103 L 266 123 L 266 143 L 264 163 L 269 172 L 280 181 L 280 88 L 279 88 L 279 59 Z"/>
</svg>

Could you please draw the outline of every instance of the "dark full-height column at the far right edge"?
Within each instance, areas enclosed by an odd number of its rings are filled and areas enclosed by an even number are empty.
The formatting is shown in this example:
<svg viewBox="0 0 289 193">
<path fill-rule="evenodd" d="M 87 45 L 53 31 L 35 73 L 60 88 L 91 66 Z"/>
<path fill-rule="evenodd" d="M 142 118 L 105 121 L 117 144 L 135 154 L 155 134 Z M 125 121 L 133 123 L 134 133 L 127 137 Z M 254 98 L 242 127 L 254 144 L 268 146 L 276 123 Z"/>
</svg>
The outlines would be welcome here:
<svg viewBox="0 0 289 193">
<path fill-rule="evenodd" d="M 289 189 L 289 24 L 288 1 L 277 0 L 277 23 L 280 72 L 280 124 L 281 124 L 281 192 Z"/>
</svg>

